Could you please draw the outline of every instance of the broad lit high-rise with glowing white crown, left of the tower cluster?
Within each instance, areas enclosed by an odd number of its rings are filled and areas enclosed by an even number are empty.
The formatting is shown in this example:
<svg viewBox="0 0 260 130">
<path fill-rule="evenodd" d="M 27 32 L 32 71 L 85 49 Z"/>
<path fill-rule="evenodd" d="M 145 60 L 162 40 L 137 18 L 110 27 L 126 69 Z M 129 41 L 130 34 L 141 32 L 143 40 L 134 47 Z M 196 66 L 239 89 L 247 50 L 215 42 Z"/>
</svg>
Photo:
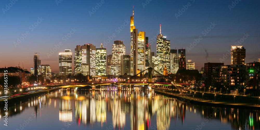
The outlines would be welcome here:
<svg viewBox="0 0 260 130">
<path fill-rule="evenodd" d="M 72 75 L 72 52 L 59 53 L 59 75 Z"/>
</svg>

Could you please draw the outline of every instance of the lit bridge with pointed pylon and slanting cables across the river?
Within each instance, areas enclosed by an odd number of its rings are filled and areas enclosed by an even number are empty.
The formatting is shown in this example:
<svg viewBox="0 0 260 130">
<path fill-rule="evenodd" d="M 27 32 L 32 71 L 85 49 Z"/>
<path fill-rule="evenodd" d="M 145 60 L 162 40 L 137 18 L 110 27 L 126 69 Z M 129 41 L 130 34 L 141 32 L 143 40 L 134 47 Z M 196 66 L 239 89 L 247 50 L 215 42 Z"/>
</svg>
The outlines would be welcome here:
<svg viewBox="0 0 260 130">
<path fill-rule="evenodd" d="M 131 79 L 133 79 L 134 77 L 138 76 L 139 74 L 145 72 L 146 70 L 148 70 L 148 82 L 129 82 L 131 81 Z M 157 82 L 152 82 L 152 71 L 158 73 L 159 75 L 161 75 L 162 77 L 164 77 L 165 79 L 169 80 L 171 83 L 157 83 Z M 142 86 L 143 88 L 148 87 L 148 90 L 151 90 L 152 86 L 155 85 L 159 85 L 159 86 L 175 86 L 176 89 L 179 89 L 180 92 L 183 92 L 182 84 L 180 83 L 176 83 L 171 81 L 170 79 L 168 79 L 167 77 L 165 77 L 164 75 L 160 74 L 159 72 L 157 72 L 156 70 L 154 70 L 152 67 L 149 67 L 145 70 L 143 70 L 142 72 L 130 77 L 128 80 L 126 81 L 120 81 L 120 82 L 89 82 L 89 83 L 75 83 L 75 84 L 55 84 L 55 85 L 49 85 L 49 86 L 53 86 L 53 87 L 61 87 L 61 88 L 81 88 L 81 87 L 86 87 L 86 86 L 92 86 L 92 90 L 95 90 L 96 86 L 117 86 L 118 90 L 121 90 L 121 87 L 123 85 L 128 85 L 128 87 L 130 87 L 131 85 L 139 85 Z"/>
</svg>

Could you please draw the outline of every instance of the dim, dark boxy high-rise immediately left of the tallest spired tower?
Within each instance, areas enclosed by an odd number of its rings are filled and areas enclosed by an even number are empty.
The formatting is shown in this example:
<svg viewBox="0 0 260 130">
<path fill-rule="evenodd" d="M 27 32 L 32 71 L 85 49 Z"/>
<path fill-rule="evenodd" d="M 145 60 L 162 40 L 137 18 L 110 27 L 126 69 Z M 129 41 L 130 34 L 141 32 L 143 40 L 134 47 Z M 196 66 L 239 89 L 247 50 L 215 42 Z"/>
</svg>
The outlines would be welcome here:
<svg viewBox="0 0 260 130">
<path fill-rule="evenodd" d="M 130 75 L 130 55 L 121 55 L 121 75 Z"/>
</svg>

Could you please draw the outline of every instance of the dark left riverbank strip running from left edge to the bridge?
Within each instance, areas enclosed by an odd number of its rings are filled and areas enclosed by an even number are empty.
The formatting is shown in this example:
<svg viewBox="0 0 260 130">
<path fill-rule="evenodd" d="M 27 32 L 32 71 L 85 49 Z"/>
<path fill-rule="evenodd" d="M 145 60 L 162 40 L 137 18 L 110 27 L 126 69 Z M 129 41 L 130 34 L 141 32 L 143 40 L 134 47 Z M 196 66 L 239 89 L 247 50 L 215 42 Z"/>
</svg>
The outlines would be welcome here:
<svg viewBox="0 0 260 130">
<path fill-rule="evenodd" d="M 20 102 L 20 101 L 23 101 L 23 100 L 27 100 L 30 97 L 38 96 L 38 95 L 41 95 L 41 94 L 46 94 L 46 93 L 53 92 L 53 91 L 56 91 L 56 90 L 59 90 L 59 89 L 61 89 L 61 88 L 52 88 L 52 89 L 38 91 L 38 92 L 35 92 L 35 93 L 26 94 L 26 95 L 18 95 L 18 96 L 15 96 L 15 97 L 11 97 L 11 98 L 7 99 L 8 100 L 8 104 L 9 103 L 12 104 L 12 103 Z M 0 100 L 0 105 L 2 106 L 4 104 L 5 104 L 4 99 Z"/>
</svg>

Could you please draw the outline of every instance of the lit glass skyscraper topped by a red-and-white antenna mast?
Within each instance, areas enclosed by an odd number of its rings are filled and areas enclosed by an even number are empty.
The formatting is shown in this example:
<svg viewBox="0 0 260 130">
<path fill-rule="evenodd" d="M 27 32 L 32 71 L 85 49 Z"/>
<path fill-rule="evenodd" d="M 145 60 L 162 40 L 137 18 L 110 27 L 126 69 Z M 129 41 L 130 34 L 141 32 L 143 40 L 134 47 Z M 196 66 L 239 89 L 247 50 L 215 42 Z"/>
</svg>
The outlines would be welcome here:
<svg viewBox="0 0 260 130">
<path fill-rule="evenodd" d="M 160 25 L 161 33 L 161 25 Z M 166 36 L 159 34 L 157 36 L 157 47 L 156 47 L 156 56 L 158 57 L 159 62 L 159 72 L 162 74 L 164 66 L 170 68 L 170 40 L 166 40 Z"/>
</svg>

